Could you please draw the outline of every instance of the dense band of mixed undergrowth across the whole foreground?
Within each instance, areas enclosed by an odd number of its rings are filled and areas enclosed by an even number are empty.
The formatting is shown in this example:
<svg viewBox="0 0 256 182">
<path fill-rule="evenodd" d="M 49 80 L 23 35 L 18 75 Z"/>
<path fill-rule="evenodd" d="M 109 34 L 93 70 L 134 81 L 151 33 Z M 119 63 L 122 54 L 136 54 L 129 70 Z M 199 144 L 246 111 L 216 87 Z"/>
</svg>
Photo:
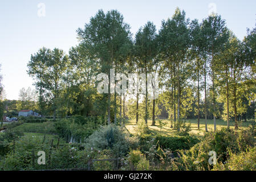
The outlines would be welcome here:
<svg viewBox="0 0 256 182">
<path fill-rule="evenodd" d="M 234 131 L 222 129 L 203 138 L 188 133 L 163 137 L 139 123 L 136 135 L 124 126 L 104 126 L 100 118 L 75 116 L 46 122 L 25 122 L 11 126 L 0 135 L 0 169 L 91 170 L 255 170 L 255 127 Z M 40 126 L 40 127 L 39 127 Z M 24 131 L 54 132 L 66 143 L 50 137 L 30 137 Z M 38 151 L 46 154 L 39 165 Z M 217 164 L 209 163 L 209 152 L 217 154 Z M 96 161 L 91 159 L 118 159 Z M 246 160 L 245 160 L 246 159 Z"/>
</svg>

